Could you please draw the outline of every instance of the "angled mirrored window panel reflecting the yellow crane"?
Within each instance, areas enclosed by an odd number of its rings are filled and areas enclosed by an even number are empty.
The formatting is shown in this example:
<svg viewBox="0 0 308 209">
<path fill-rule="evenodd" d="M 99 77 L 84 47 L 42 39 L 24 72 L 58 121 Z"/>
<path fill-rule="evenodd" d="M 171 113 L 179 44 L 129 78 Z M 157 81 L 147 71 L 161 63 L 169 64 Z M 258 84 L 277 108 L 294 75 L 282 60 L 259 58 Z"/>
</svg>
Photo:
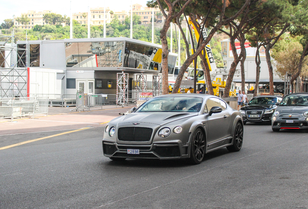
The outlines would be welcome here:
<svg viewBox="0 0 308 209">
<path fill-rule="evenodd" d="M 126 42 L 124 67 L 160 71 L 160 48 Z"/>
</svg>

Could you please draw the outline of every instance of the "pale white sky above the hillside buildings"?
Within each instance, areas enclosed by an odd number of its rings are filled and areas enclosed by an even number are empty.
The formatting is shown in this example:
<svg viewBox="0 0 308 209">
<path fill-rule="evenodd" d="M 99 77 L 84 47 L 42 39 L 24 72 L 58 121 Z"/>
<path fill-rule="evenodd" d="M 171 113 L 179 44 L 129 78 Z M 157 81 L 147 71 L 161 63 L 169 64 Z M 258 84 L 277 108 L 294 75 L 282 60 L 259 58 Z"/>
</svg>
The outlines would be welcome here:
<svg viewBox="0 0 308 209">
<path fill-rule="evenodd" d="M 133 4 L 138 3 L 146 6 L 148 0 L 132 0 Z M 72 3 L 71 3 L 72 2 Z M 4 19 L 13 18 L 13 15 L 20 16 L 28 11 L 43 12 L 51 10 L 53 13 L 70 15 L 70 5 L 72 13 L 87 12 L 90 8 L 109 7 L 112 11 L 118 12 L 130 10 L 131 0 L 0 0 L 0 24 Z"/>
</svg>

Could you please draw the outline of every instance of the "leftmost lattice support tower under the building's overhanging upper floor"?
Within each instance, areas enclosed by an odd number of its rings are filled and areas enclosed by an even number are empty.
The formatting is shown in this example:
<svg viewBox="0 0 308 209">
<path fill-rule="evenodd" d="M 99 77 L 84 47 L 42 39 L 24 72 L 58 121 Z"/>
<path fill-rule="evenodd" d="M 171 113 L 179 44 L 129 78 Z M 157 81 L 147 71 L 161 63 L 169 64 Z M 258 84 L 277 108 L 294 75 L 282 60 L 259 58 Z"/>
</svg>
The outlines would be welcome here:
<svg viewBox="0 0 308 209">
<path fill-rule="evenodd" d="M 128 104 L 128 73 L 117 73 L 117 104 Z"/>
</svg>

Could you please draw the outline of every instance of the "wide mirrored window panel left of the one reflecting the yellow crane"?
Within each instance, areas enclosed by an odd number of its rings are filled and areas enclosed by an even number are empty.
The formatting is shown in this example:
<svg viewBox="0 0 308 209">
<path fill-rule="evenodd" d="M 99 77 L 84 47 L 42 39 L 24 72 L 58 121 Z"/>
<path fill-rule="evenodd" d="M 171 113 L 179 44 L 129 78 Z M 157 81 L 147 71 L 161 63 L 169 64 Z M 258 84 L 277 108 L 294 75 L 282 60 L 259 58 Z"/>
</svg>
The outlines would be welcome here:
<svg viewBox="0 0 308 209">
<path fill-rule="evenodd" d="M 66 67 L 121 67 L 123 42 L 66 43 Z"/>
</svg>

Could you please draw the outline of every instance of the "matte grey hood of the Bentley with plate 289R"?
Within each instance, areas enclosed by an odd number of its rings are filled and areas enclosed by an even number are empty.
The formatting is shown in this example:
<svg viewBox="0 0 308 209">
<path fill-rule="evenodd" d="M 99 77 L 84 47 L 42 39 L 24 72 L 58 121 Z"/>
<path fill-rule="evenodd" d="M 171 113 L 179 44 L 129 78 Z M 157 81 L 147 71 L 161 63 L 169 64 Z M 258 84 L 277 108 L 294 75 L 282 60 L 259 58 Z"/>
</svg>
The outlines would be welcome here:
<svg viewBox="0 0 308 209">
<path fill-rule="evenodd" d="M 154 123 L 157 125 L 164 125 L 166 123 L 183 119 L 187 117 L 196 116 L 198 113 L 186 113 L 186 112 L 137 112 L 131 113 L 121 117 L 118 124 L 123 123 Z"/>
</svg>

